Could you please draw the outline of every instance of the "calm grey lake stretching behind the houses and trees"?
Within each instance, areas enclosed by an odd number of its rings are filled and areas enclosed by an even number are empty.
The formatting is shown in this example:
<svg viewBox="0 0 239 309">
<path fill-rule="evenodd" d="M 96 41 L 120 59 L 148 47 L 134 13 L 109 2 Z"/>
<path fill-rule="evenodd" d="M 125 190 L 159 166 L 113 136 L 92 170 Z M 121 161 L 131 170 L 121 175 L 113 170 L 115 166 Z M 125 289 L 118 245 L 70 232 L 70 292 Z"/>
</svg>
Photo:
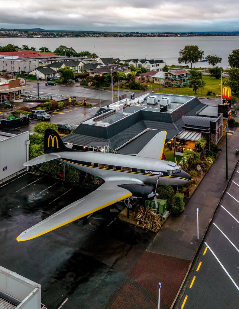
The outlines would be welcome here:
<svg viewBox="0 0 239 309">
<path fill-rule="evenodd" d="M 88 50 L 100 57 L 121 59 L 163 59 L 167 64 L 178 64 L 179 50 L 185 45 L 198 45 L 204 57 L 216 54 L 222 57 L 219 66 L 228 67 L 228 55 L 239 49 L 239 36 L 142 37 L 142 38 L 0 38 L 0 45 L 23 44 L 29 47 L 48 47 L 51 51 L 60 45 L 73 47 L 77 52 Z M 209 67 L 198 62 L 195 67 Z"/>
</svg>

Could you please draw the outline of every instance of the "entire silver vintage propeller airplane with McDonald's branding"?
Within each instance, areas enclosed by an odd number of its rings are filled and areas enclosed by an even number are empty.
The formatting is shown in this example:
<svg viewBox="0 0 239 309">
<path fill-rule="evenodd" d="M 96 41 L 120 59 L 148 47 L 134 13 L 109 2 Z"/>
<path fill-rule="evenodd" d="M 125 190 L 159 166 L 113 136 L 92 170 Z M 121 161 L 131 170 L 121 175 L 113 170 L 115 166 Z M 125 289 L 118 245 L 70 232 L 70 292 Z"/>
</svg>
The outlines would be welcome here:
<svg viewBox="0 0 239 309">
<path fill-rule="evenodd" d="M 22 232 L 17 240 L 36 238 L 132 196 L 145 200 L 155 198 L 157 203 L 158 184 L 188 183 L 191 177 L 181 171 L 176 163 L 161 160 L 166 135 L 166 131 L 157 133 L 137 156 L 130 156 L 70 149 L 54 130 L 47 129 L 44 155 L 24 163 L 24 166 L 57 159 L 81 171 L 99 176 L 105 183 L 94 192 Z"/>
</svg>

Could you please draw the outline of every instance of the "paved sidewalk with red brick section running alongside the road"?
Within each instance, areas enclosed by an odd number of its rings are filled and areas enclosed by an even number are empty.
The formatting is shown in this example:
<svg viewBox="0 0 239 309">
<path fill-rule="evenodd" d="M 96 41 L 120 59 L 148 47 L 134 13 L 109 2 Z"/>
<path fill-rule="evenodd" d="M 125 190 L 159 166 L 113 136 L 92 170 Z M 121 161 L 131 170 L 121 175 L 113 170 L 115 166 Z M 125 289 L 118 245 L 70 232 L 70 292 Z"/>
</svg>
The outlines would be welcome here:
<svg viewBox="0 0 239 309">
<path fill-rule="evenodd" d="M 239 129 L 233 128 L 233 131 L 228 135 L 228 179 L 239 159 L 235 155 L 239 148 Z M 160 308 L 172 307 L 228 183 L 225 179 L 225 143 L 224 138 L 219 146 L 222 152 L 187 203 L 184 213 L 170 216 L 104 308 L 156 309 L 159 282 L 163 282 Z M 148 305 L 144 305 L 147 301 Z"/>
</svg>

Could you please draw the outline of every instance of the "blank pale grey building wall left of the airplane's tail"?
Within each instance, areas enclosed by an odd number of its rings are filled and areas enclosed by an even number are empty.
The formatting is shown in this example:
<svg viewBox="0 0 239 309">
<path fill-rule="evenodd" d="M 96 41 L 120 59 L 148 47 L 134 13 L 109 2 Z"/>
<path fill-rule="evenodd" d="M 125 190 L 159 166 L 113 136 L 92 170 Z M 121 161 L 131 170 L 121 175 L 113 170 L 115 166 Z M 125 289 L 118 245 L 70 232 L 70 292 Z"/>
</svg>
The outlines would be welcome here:
<svg viewBox="0 0 239 309">
<path fill-rule="evenodd" d="M 29 140 L 29 132 L 0 141 L 0 181 L 25 168 L 23 163 L 28 160 L 29 152 L 29 145 L 25 144 L 27 140 Z M 4 167 L 7 167 L 5 171 L 3 171 Z"/>
</svg>

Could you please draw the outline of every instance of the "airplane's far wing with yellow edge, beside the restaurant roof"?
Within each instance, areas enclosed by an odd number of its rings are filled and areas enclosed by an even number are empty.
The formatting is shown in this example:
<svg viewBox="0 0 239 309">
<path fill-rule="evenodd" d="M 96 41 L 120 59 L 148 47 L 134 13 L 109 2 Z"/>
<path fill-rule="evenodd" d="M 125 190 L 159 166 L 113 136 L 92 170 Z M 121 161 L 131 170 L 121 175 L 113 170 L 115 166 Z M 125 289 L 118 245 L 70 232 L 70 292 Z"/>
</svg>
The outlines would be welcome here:
<svg viewBox="0 0 239 309">
<path fill-rule="evenodd" d="M 151 141 L 144 146 L 142 150 L 137 154 L 137 157 L 162 159 L 163 148 L 166 140 L 166 131 L 161 131 L 154 135 Z"/>
</svg>

